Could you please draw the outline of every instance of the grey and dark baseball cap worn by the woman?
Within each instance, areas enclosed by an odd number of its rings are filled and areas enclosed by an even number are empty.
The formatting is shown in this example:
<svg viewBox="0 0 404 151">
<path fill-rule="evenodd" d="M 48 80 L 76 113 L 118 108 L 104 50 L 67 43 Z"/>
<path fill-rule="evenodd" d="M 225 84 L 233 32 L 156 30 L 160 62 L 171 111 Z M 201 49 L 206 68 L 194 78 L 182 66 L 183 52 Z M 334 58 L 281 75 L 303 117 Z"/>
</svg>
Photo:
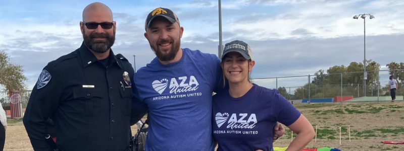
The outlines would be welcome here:
<svg viewBox="0 0 404 151">
<path fill-rule="evenodd" d="M 247 43 L 241 40 L 234 40 L 232 42 L 226 43 L 223 49 L 223 54 L 220 59 L 223 59 L 223 57 L 229 53 L 229 52 L 238 52 L 240 53 L 245 59 L 251 59 L 252 60 L 252 53 L 251 53 L 251 48 Z"/>
</svg>

